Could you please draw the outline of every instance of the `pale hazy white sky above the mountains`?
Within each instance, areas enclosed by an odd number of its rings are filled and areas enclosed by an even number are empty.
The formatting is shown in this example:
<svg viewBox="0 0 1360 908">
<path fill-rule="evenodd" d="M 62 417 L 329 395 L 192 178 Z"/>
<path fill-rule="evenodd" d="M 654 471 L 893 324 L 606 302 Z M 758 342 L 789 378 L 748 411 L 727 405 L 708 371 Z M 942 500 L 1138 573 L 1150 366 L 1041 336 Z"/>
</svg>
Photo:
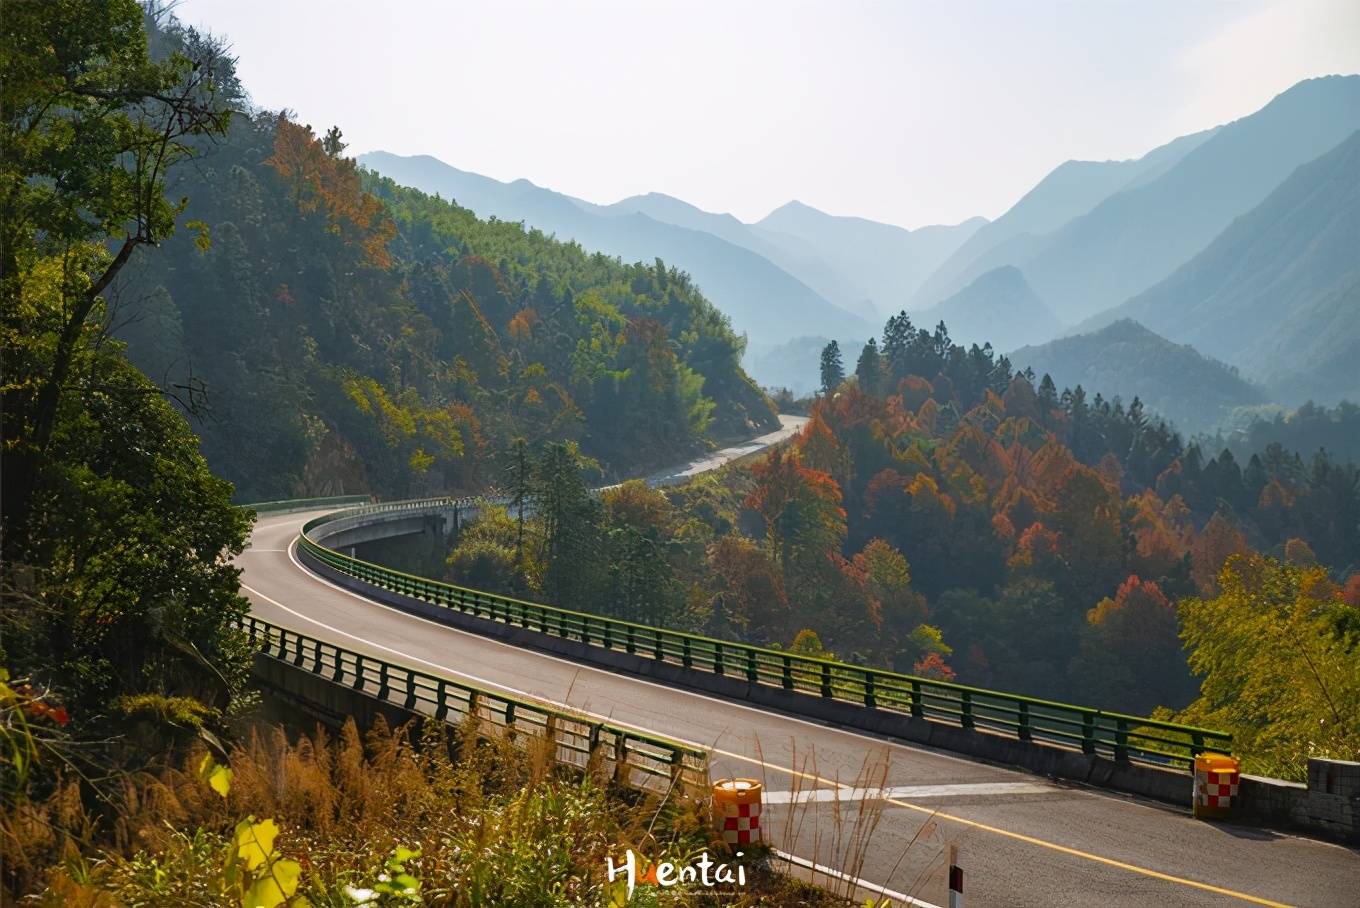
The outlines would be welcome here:
<svg viewBox="0 0 1360 908">
<path fill-rule="evenodd" d="M 1360 71 L 1360 3 L 184 0 L 256 103 L 354 154 L 596 203 L 906 227 L 996 217 L 1069 158 L 1138 156 Z"/>
</svg>

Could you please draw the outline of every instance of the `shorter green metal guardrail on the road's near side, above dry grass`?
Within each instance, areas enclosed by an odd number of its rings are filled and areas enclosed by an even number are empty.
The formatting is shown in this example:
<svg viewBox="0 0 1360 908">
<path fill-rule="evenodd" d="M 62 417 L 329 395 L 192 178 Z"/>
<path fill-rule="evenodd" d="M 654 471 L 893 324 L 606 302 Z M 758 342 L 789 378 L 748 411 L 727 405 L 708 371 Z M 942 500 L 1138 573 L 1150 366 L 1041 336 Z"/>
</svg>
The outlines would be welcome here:
<svg viewBox="0 0 1360 908">
<path fill-rule="evenodd" d="M 600 767 L 616 783 L 639 790 L 707 788 L 709 754 L 703 750 L 416 671 L 253 616 L 242 618 L 239 627 L 258 651 L 333 684 L 452 724 L 476 716 L 480 733 L 488 737 L 548 741 L 554 763 Z"/>
</svg>

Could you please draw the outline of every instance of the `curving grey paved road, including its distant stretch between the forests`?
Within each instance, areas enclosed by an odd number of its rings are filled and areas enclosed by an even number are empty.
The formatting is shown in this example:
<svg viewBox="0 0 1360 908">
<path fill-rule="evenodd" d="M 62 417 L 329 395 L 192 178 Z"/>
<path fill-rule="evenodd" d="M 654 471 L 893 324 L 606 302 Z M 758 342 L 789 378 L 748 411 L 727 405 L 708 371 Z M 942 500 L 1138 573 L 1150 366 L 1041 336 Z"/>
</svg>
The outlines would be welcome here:
<svg viewBox="0 0 1360 908">
<path fill-rule="evenodd" d="M 805 420 L 781 421 L 777 432 L 647 481 L 669 484 L 715 469 L 785 440 Z M 1350 848 L 1201 822 L 1185 809 L 520 650 L 377 604 L 299 563 L 298 531 L 324 512 L 265 517 L 256 525 L 238 564 L 257 616 L 390 662 L 709 749 L 714 778 L 763 779 L 768 839 L 804 863 L 847 870 L 923 905 L 948 901 L 949 844 L 960 848 L 970 908 L 1360 905 L 1360 852 Z M 1187 779 L 1187 801 L 1189 787 Z M 857 837 L 866 844 L 855 845 Z"/>
</svg>

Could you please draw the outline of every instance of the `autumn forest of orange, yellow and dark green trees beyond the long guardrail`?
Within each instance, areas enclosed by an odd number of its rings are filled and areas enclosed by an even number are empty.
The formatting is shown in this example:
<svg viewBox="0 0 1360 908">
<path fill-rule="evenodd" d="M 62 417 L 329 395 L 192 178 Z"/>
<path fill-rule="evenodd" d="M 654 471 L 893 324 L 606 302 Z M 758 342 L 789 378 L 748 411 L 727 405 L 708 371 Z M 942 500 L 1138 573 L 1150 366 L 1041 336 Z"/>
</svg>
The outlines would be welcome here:
<svg viewBox="0 0 1360 908">
<path fill-rule="evenodd" d="M 828 347 L 821 378 L 793 446 L 679 489 L 596 499 L 571 450 L 528 458 L 511 487 L 541 515 L 526 533 L 492 510 L 458 537 L 449 575 L 1108 710 L 1258 723 L 1262 741 L 1292 744 L 1261 744 L 1257 765 L 1288 775 L 1307 745 L 1282 704 L 1306 726 L 1318 712 L 1304 704 L 1345 703 L 1337 737 L 1311 744 L 1355 756 L 1355 464 L 1278 443 L 1239 464 L 1137 398 L 1059 391 L 904 314 L 850 378 Z M 1299 680 L 1315 670 L 1310 700 Z M 1251 719 L 1235 705 L 1246 677 L 1280 697 L 1258 693 Z M 1253 730 L 1238 730 L 1250 752 Z"/>
</svg>

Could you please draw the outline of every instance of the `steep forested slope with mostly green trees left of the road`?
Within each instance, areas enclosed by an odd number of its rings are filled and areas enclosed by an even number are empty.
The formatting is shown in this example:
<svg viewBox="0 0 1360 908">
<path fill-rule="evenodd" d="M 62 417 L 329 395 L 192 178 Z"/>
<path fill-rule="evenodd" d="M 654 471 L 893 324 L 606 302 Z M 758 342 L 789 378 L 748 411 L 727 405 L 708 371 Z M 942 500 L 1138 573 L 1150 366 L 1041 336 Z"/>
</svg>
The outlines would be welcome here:
<svg viewBox="0 0 1360 908">
<path fill-rule="evenodd" d="M 622 473 L 775 424 L 685 275 L 366 181 L 339 133 L 238 117 L 171 192 L 200 227 L 139 262 L 114 324 L 205 391 L 241 499 L 480 488 L 515 436 Z"/>
</svg>

